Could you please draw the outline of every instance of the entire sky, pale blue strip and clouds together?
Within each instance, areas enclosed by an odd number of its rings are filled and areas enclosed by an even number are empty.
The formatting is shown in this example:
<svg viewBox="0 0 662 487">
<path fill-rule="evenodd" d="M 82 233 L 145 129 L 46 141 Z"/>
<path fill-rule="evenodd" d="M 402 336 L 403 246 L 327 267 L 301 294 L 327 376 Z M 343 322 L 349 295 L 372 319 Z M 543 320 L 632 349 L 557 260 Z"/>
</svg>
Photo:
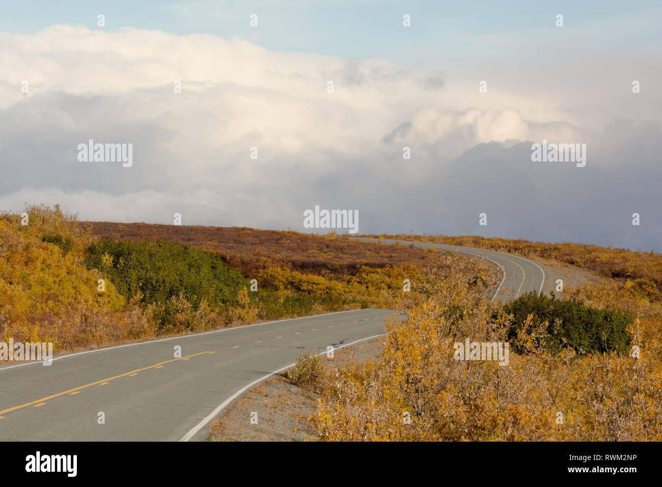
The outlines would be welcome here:
<svg viewBox="0 0 662 487">
<path fill-rule="evenodd" d="M 0 7 L 0 210 L 324 233 L 318 205 L 359 233 L 662 251 L 659 2 Z M 81 161 L 90 139 L 131 166 Z M 586 165 L 532 161 L 543 140 Z"/>
</svg>

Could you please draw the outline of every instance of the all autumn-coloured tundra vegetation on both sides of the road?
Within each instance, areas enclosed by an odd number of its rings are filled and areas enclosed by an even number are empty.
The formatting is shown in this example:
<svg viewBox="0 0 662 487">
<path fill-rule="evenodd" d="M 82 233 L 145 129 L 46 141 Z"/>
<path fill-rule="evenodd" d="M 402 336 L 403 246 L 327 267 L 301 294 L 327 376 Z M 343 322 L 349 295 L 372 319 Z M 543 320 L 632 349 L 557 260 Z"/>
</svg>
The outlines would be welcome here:
<svg viewBox="0 0 662 487">
<path fill-rule="evenodd" d="M 52 342 L 63 352 L 343 309 L 403 309 L 406 320 L 387 323 L 379 358 L 326 376 L 308 354 L 289 373 L 320 392 L 311 417 L 320 439 L 662 439 L 660 254 L 397 236 L 608 278 L 564 299 L 526 294 L 504 305 L 488 298 L 500 278 L 489 265 L 434 250 L 334 233 L 87 223 L 58 206 L 25 213 L 28 225 L 0 214 L 0 341 Z M 454 343 L 466 339 L 510 344 L 508 364 L 455 360 Z"/>
</svg>

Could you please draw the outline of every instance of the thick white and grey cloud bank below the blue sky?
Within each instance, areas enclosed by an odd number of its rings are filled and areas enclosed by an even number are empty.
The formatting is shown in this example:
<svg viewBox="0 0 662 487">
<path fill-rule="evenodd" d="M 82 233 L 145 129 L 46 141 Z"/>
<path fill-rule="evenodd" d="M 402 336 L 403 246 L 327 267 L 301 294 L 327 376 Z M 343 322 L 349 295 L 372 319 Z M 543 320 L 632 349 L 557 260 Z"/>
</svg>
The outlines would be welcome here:
<svg viewBox="0 0 662 487">
<path fill-rule="evenodd" d="M 184 225 L 305 231 L 303 212 L 320 205 L 358 210 L 361 233 L 662 250 L 653 80 L 635 94 L 632 58 L 610 60 L 620 85 L 600 58 L 565 60 L 552 76 L 571 74 L 560 89 L 539 70 L 497 66 L 484 78 L 480 66 L 413 70 L 210 34 L 3 33 L 0 208 L 60 203 L 81 219 L 172 223 L 181 213 Z M 573 89 L 586 85 L 593 94 Z M 132 167 L 79 162 L 89 139 L 133 144 Z M 532 162 L 543 139 L 586 143 L 587 166 Z"/>
</svg>

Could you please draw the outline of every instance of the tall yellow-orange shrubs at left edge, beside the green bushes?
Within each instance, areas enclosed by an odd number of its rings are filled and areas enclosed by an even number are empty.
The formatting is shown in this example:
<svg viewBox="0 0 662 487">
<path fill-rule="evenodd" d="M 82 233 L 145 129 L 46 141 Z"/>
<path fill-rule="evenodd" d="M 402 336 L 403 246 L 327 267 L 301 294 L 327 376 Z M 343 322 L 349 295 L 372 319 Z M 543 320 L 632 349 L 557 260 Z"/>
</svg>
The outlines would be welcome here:
<svg viewBox="0 0 662 487">
<path fill-rule="evenodd" d="M 152 338 L 150 310 L 128 303 L 83 265 L 91 238 L 59 207 L 0 215 L 0 341 L 52 342 L 54 352 Z M 23 225 L 26 223 L 26 225 Z"/>
</svg>

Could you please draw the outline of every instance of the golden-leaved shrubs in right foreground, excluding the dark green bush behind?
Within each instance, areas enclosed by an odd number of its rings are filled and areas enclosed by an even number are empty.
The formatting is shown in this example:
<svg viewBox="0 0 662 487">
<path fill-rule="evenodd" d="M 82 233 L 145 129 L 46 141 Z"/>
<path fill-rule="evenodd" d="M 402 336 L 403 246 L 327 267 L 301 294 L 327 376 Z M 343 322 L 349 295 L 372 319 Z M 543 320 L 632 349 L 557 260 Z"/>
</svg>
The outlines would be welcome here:
<svg viewBox="0 0 662 487">
<path fill-rule="evenodd" d="M 504 366 L 455 360 L 460 337 L 505 341 L 510 323 L 493 313 L 498 303 L 483 302 L 450 325 L 440 305 L 432 298 L 389 322 L 377 360 L 336 369 L 312 415 L 322 441 L 662 439 L 659 343 L 636 354 L 552 355 L 540 327 L 518 337 L 523 353 L 510 351 Z"/>
</svg>

